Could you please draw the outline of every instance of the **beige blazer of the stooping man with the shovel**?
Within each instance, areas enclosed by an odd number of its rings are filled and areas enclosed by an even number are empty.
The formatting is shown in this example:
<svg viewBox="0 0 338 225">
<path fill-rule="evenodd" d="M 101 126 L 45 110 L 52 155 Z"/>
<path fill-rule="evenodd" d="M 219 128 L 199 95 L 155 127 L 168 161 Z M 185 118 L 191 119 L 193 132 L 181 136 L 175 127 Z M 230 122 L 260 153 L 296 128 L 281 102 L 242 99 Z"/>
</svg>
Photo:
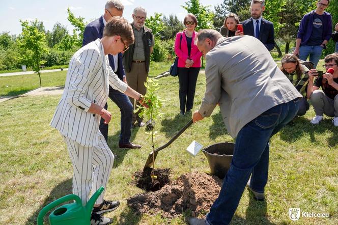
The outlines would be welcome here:
<svg viewBox="0 0 338 225">
<path fill-rule="evenodd" d="M 264 111 L 302 97 L 255 37 L 220 38 L 206 55 L 206 92 L 200 114 L 209 117 L 219 102 L 232 137 Z"/>
</svg>

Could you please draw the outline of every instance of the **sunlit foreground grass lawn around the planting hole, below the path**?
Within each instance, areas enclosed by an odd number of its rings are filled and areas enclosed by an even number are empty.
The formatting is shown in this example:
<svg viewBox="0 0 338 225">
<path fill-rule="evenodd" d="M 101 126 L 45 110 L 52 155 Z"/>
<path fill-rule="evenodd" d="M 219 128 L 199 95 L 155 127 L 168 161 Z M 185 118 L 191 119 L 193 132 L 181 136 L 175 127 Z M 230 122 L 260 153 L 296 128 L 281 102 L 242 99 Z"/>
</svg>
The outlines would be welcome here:
<svg viewBox="0 0 338 225">
<path fill-rule="evenodd" d="M 163 68 L 162 68 L 163 69 Z M 152 74 L 152 72 L 151 72 Z M 60 74 L 64 76 L 64 74 Z M 165 144 L 188 121 L 179 116 L 178 78 L 159 79 L 163 117 L 156 121 L 155 145 Z M 205 75 L 200 74 L 194 109 L 201 104 Z M 0 103 L 0 224 L 36 224 L 43 206 L 71 193 L 72 165 L 59 131 L 49 127 L 60 96 L 20 97 Z M 151 152 L 145 128 L 134 128 L 131 140 L 140 150 L 120 150 L 120 111 L 108 100 L 112 118 L 108 144 L 119 157 L 114 162 L 105 199 L 120 200 L 121 206 L 107 216 L 114 224 L 185 224 L 187 214 L 168 220 L 160 214 L 137 216 L 126 199 L 143 190 L 132 185 L 133 174 L 143 168 Z M 266 202 L 256 202 L 245 189 L 232 224 L 338 224 L 338 128 L 330 118 L 311 126 L 314 110 L 296 119 L 276 134 L 270 145 L 269 182 Z M 218 107 L 210 118 L 192 125 L 171 146 L 159 152 L 156 167 L 172 168 L 171 179 L 189 172 L 185 148 L 196 140 L 204 146 L 233 139 L 227 134 Z M 209 172 L 199 153 L 192 171 Z M 289 208 L 302 212 L 329 213 L 328 218 L 289 219 Z"/>
</svg>

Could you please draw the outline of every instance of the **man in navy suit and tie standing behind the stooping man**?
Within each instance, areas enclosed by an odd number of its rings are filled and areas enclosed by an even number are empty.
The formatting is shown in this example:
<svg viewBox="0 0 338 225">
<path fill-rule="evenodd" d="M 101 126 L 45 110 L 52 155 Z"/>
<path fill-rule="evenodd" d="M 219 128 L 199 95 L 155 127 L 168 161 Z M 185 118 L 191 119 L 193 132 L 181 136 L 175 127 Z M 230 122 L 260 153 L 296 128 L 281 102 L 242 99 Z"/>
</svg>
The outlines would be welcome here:
<svg viewBox="0 0 338 225">
<path fill-rule="evenodd" d="M 264 19 L 264 0 L 252 0 L 250 6 L 251 18 L 242 22 L 243 32 L 237 30 L 235 35 L 250 35 L 258 38 L 271 51 L 274 48 L 273 23 Z"/>
</svg>

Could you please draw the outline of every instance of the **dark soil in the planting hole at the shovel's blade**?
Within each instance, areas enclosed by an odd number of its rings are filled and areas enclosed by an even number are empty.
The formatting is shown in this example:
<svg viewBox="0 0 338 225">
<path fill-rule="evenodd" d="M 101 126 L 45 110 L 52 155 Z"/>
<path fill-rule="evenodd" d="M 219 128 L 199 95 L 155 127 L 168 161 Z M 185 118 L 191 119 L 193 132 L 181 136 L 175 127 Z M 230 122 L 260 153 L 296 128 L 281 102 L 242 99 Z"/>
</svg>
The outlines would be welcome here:
<svg viewBox="0 0 338 225">
<path fill-rule="evenodd" d="M 164 185 L 170 183 L 169 175 L 170 168 L 157 168 L 154 170 L 154 175 L 157 178 L 151 178 L 152 168 L 148 167 L 145 171 L 136 171 L 135 182 L 136 187 L 144 189 L 146 191 L 156 191 L 161 189 Z"/>
</svg>

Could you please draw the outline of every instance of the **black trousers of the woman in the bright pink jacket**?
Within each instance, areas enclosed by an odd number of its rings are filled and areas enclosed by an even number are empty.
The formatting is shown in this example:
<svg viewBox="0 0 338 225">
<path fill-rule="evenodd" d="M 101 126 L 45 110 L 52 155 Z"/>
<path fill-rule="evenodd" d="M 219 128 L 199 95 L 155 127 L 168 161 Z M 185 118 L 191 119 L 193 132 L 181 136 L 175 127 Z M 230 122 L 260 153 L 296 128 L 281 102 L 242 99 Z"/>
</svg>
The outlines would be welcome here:
<svg viewBox="0 0 338 225">
<path fill-rule="evenodd" d="M 193 98 L 195 97 L 196 82 L 201 68 L 178 68 L 178 79 L 180 81 L 180 110 L 191 110 L 193 106 Z"/>
</svg>

